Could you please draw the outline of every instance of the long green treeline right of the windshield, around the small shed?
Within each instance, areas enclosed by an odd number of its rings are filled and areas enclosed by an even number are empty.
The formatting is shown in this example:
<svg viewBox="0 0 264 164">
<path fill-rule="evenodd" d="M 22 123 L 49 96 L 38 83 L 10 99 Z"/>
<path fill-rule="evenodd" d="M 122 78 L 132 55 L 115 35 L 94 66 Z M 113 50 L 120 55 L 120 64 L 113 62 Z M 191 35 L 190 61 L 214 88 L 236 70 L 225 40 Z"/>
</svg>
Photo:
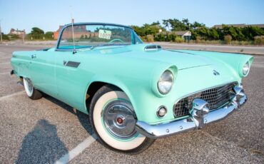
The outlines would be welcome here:
<svg viewBox="0 0 264 164">
<path fill-rule="evenodd" d="M 164 19 L 160 22 L 153 22 L 152 24 L 143 24 L 143 26 L 132 26 L 136 33 L 142 37 L 153 35 L 155 41 L 176 41 L 169 31 L 186 31 L 192 33 L 194 40 L 222 40 L 229 43 L 233 41 L 254 41 L 255 36 L 264 36 L 264 30 L 255 26 L 234 27 L 222 25 L 223 28 L 215 29 L 208 28 L 203 23 L 194 21 L 191 23 L 188 19 Z M 159 29 L 163 29 L 161 34 L 158 33 Z M 258 39 L 258 38 L 257 38 Z M 258 39 L 259 40 L 259 39 Z M 255 41 L 259 42 L 259 41 Z"/>
</svg>

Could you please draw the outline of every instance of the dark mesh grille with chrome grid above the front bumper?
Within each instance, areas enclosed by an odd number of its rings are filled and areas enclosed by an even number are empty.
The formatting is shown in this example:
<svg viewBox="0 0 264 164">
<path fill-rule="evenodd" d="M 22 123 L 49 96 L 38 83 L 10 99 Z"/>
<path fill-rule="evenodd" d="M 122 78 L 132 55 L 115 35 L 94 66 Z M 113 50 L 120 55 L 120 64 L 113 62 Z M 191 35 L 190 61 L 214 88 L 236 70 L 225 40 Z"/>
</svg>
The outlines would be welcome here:
<svg viewBox="0 0 264 164">
<path fill-rule="evenodd" d="M 195 98 L 201 98 L 207 101 L 210 110 L 223 106 L 223 104 L 230 101 L 230 98 L 234 95 L 233 87 L 237 84 L 236 82 L 228 83 L 224 86 L 210 88 L 205 91 L 194 93 L 191 96 L 181 98 L 181 100 L 173 106 L 174 116 L 176 118 L 187 116 L 191 111 L 192 103 Z"/>
</svg>

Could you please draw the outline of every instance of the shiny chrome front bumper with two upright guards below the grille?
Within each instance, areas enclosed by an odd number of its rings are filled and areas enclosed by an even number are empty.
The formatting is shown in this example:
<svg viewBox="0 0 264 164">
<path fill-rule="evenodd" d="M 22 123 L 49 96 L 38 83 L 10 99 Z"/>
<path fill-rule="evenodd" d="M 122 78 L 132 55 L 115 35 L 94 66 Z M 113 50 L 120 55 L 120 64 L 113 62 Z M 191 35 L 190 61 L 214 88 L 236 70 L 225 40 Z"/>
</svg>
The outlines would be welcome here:
<svg viewBox="0 0 264 164">
<path fill-rule="evenodd" d="M 203 125 L 220 121 L 226 118 L 247 101 L 247 96 L 243 92 L 242 86 L 235 86 L 235 96 L 225 106 L 208 111 L 207 102 L 198 99 L 193 102 L 193 110 L 189 118 L 184 118 L 170 123 L 161 123 L 158 125 L 149 125 L 143 121 L 137 121 L 136 130 L 138 133 L 145 135 L 148 138 L 161 138 L 168 135 L 183 133 L 188 130 L 202 128 Z"/>
</svg>

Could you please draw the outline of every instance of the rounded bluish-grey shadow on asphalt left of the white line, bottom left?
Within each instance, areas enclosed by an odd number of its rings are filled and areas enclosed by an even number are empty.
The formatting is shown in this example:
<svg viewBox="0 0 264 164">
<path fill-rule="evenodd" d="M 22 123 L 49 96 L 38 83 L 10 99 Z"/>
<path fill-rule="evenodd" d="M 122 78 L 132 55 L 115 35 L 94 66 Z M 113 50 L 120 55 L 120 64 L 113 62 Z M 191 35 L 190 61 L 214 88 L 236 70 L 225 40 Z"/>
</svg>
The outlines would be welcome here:
<svg viewBox="0 0 264 164">
<path fill-rule="evenodd" d="M 16 163 L 55 163 L 66 153 L 68 150 L 57 135 L 56 125 L 42 119 L 24 138 Z"/>
</svg>

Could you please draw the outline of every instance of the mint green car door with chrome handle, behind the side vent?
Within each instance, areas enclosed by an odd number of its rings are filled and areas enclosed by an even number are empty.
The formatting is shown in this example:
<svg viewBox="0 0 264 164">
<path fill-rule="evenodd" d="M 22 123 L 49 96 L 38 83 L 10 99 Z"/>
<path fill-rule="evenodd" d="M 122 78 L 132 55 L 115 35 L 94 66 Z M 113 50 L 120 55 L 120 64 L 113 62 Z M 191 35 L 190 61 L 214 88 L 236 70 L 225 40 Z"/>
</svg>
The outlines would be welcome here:
<svg viewBox="0 0 264 164">
<path fill-rule="evenodd" d="M 33 51 L 31 54 L 30 74 L 34 87 L 56 97 L 54 51 Z"/>
</svg>

